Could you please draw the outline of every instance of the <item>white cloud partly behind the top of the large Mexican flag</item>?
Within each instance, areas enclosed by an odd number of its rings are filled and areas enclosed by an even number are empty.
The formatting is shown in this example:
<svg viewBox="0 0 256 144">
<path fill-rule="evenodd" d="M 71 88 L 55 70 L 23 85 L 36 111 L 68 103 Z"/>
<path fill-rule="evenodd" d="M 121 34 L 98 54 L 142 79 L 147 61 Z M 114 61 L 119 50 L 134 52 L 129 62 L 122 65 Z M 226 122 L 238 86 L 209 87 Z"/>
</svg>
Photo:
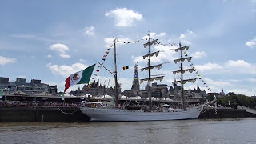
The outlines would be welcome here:
<svg viewBox="0 0 256 144">
<path fill-rule="evenodd" d="M 75 72 L 78 72 L 80 70 L 85 69 L 86 65 L 83 65 L 82 63 L 74 63 L 71 66 L 66 65 L 52 65 L 51 63 L 48 63 L 46 65 L 50 70 L 52 74 L 61 75 L 62 77 L 67 78 L 70 74 L 74 74 Z"/>
</svg>

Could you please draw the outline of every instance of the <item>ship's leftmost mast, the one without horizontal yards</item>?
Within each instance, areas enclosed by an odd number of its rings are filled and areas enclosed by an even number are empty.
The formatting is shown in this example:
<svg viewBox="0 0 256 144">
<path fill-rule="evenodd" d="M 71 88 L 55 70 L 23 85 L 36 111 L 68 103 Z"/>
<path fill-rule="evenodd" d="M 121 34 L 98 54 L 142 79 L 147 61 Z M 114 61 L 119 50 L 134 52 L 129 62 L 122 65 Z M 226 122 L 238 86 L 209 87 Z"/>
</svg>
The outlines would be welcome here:
<svg viewBox="0 0 256 144">
<path fill-rule="evenodd" d="M 117 70 L 117 50 L 115 43 L 117 38 L 114 39 L 114 84 L 115 84 L 115 106 L 118 106 L 118 70 Z"/>
</svg>

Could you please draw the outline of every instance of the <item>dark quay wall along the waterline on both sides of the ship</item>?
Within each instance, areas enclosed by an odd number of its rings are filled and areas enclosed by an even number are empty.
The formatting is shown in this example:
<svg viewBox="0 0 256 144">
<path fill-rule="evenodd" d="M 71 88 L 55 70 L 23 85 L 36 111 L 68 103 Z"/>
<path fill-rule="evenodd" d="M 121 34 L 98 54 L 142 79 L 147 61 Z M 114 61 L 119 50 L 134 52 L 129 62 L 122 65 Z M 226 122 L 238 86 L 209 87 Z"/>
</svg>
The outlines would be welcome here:
<svg viewBox="0 0 256 144">
<path fill-rule="evenodd" d="M 239 109 L 205 109 L 199 119 L 255 117 Z M 79 107 L 0 106 L 0 122 L 89 122 Z"/>
</svg>

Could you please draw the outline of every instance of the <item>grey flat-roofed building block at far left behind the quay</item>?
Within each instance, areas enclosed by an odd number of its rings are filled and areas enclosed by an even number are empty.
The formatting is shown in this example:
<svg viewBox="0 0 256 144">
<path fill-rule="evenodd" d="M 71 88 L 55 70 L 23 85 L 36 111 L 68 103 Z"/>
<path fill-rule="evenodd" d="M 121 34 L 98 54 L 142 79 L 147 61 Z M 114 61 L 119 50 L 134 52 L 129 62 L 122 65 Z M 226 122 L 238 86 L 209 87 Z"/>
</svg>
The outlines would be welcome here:
<svg viewBox="0 0 256 144">
<path fill-rule="evenodd" d="M 38 79 L 26 82 L 25 78 L 16 78 L 16 81 L 10 82 L 9 78 L 0 77 L 0 90 L 3 90 L 6 94 L 14 92 L 23 94 L 57 94 L 57 86 L 49 86 Z"/>
</svg>

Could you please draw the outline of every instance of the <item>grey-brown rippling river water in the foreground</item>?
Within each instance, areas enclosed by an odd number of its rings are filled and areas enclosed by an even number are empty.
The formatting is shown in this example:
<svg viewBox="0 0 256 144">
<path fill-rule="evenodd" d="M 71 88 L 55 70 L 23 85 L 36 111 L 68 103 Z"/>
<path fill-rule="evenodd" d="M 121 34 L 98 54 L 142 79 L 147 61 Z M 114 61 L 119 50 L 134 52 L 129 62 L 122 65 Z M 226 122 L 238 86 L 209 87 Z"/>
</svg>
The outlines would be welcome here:
<svg viewBox="0 0 256 144">
<path fill-rule="evenodd" d="M 0 123 L 0 143 L 256 143 L 256 118 Z"/>
</svg>

